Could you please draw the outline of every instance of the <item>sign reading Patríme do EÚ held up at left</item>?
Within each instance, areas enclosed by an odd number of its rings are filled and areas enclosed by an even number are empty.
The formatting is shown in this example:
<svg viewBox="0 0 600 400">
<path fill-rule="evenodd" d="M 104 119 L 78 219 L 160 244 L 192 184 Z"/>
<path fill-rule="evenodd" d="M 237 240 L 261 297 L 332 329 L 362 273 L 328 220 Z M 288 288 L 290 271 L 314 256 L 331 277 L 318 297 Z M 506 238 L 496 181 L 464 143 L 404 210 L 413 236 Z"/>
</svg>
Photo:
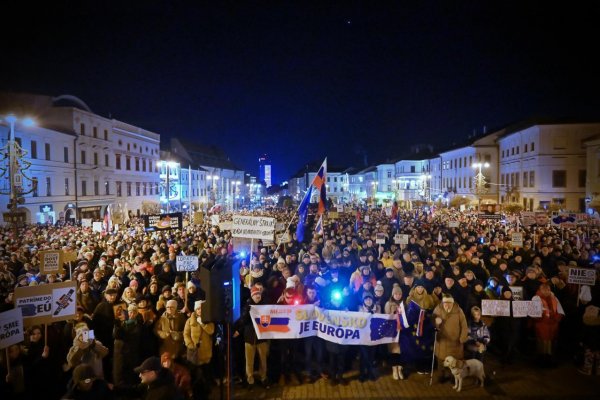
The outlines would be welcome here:
<svg viewBox="0 0 600 400">
<path fill-rule="evenodd" d="M 76 282 L 68 281 L 15 288 L 15 308 L 22 310 L 25 326 L 75 317 L 76 285 Z"/>
</svg>

